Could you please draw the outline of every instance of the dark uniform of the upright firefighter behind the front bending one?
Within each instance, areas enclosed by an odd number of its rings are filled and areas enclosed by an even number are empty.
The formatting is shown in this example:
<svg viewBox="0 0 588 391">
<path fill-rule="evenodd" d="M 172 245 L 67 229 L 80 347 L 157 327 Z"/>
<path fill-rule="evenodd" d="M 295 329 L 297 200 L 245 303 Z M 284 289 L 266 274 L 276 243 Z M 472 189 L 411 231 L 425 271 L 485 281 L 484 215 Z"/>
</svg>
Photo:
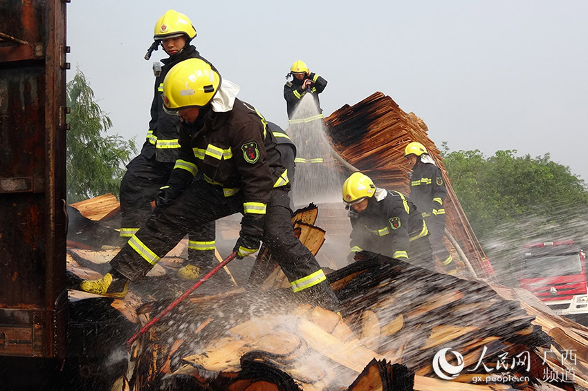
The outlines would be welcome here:
<svg viewBox="0 0 588 391">
<path fill-rule="evenodd" d="M 179 53 L 161 60 L 163 67 L 155 79 L 154 97 L 151 102 L 151 120 L 147 140 L 140 155 L 127 164 L 127 172 L 120 182 L 120 212 L 122 222 L 120 236 L 131 238 L 143 227 L 151 214 L 151 201 L 154 201 L 160 187 L 165 186 L 172 174 L 178 158 L 180 120 L 176 115 L 163 111 L 163 79 L 172 66 L 189 58 L 200 58 L 200 53 L 192 45 L 186 46 Z M 206 61 L 206 60 L 205 60 Z M 207 61 L 208 62 L 208 61 Z M 212 269 L 217 265 L 214 260 L 214 222 L 190 230 L 188 242 L 189 262 Z"/>
</svg>

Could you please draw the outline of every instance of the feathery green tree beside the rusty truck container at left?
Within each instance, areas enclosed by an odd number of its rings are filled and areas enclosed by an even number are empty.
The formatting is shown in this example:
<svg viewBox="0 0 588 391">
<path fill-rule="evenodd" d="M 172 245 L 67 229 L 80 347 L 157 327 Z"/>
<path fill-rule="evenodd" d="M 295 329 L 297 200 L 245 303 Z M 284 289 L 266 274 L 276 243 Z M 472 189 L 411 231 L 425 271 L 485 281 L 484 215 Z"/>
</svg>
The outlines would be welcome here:
<svg viewBox="0 0 588 391">
<path fill-rule="evenodd" d="M 106 135 L 110 118 L 95 102 L 94 92 L 78 68 L 66 86 L 71 125 L 66 137 L 67 200 L 69 203 L 113 193 L 118 196 L 125 164 L 136 153 L 134 140 Z"/>
</svg>

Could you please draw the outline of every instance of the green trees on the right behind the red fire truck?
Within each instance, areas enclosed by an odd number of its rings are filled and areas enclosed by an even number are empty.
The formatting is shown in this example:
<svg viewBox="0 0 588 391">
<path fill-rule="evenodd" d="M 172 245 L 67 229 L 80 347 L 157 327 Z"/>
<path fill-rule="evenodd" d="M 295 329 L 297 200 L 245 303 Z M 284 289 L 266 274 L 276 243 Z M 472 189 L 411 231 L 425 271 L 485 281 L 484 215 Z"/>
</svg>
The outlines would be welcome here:
<svg viewBox="0 0 588 391">
<path fill-rule="evenodd" d="M 449 151 L 443 164 L 468 220 L 493 265 L 515 283 L 517 257 L 529 242 L 573 239 L 588 245 L 588 190 L 569 166 L 497 151 Z"/>
</svg>

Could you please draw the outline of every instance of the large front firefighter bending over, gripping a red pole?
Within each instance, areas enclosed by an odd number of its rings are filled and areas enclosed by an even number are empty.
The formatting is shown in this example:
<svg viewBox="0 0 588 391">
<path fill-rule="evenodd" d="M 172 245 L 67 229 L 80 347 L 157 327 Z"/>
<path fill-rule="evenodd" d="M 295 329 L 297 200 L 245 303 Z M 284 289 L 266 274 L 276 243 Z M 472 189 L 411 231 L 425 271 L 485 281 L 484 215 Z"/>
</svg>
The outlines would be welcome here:
<svg viewBox="0 0 588 391">
<path fill-rule="evenodd" d="M 264 117 L 236 97 L 238 91 L 202 59 L 187 59 L 169 71 L 163 102 L 182 120 L 180 156 L 164 190 L 175 202 L 157 208 L 110 261 L 111 272 L 83 281 L 84 291 L 122 296 L 128 281 L 143 278 L 190 228 L 240 212 L 237 258 L 253 254 L 264 240 L 293 292 L 336 309 L 324 272 L 294 236 L 288 172 L 275 137 Z M 205 180 L 193 181 L 196 172 Z"/>
</svg>

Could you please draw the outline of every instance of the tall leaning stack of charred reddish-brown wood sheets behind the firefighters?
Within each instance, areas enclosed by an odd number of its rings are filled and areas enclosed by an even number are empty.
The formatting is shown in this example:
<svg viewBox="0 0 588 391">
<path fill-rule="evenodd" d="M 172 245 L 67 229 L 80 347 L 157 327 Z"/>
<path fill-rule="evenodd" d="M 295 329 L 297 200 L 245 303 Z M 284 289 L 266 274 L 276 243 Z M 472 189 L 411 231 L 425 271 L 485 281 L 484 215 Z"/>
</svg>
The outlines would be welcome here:
<svg viewBox="0 0 588 391">
<path fill-rule="evenodd" d="M 325 118 L 324 124 L 331 146 L 347 171 L 358 169 L 374 180 L 376 186 L 405 194 L 409 191 L 407 174 L 412 169 L 404 158 L 405 146 L 414 141 L 423 144 L 441 169 L 447 185 L 448 196 L 444 205 L 448 231 L 459 241 L 459 247 L 477 277 L 497 283 L 494 271 L 451 187 L 439 149 L 428 137 L 429 129 L 423 120 L 414 113 L 405 113 L 391 97 L 378 92 L 353 106 L 342 106 Z M 454 242 L 446 244 L 448 248 L 457 247 Z M 456 259 L 459 250 L 452 251 Z"/>
</svg>

